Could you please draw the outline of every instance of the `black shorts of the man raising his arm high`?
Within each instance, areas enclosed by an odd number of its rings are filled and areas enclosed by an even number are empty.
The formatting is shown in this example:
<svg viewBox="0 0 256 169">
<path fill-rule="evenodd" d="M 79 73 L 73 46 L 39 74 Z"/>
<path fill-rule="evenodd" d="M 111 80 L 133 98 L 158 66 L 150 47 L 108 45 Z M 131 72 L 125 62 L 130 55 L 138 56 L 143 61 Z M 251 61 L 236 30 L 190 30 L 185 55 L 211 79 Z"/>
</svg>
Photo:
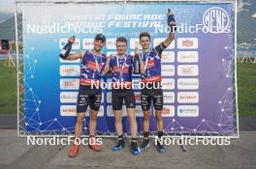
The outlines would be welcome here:
<svg viewBox="0 0 256 169">
<path fill-rule="evenodd" d="M 156 85 L 157 86 L 157 85 Z M 163 109 L 163 90 L 162 88 L 157 89 L 141 89 L 141 104 L 143 111 L 149 110 L 151 106 L 151 100 L 153 100 L 153 105 L 155 110 Z"/>
</svg>

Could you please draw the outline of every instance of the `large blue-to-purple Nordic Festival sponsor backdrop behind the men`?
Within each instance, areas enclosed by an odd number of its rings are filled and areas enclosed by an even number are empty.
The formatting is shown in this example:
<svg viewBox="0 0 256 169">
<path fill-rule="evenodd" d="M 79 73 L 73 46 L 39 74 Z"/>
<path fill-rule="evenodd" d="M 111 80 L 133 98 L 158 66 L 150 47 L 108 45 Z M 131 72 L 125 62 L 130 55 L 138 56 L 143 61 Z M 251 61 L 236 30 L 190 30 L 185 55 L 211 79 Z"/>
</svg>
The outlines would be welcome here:
<svg viewBox="0 0 256 169">
<path fill-rule="evenodd" d="M 176 15 L 176 40 L 163 52 L 164 131 L 231 134 L 233 131 L 232 4 L 85 4 L 25 5 L 22 8 L 24 115 L 27 131 L 72 132 L 76 123 L 80 60 L 64 61 L 60 49 L 76 36 L 72 52 L 92 49 L 98 33 L 107 37 L 103 52 L 115 53 L 115 39 L 128 40 L 127 53 L 140 46 L 139 34 L 151 35 L 151 46 L 169 35 L 167 10 Z M 140 80 L 140 76 L 134 75 Z M 105 77 L 105 81 L 109 81 Z M 140 90 L 134 89 L 139 130 L 143 129 Z M 123 107 L 123 127 L 129 123 Z M 151 107 L 150 130 L 156 131 Z M 88 110 L 84 133 L 88 131 Z M 103 91 L 97 131 L 114 133 L 111 89 Z"/>
</svg>

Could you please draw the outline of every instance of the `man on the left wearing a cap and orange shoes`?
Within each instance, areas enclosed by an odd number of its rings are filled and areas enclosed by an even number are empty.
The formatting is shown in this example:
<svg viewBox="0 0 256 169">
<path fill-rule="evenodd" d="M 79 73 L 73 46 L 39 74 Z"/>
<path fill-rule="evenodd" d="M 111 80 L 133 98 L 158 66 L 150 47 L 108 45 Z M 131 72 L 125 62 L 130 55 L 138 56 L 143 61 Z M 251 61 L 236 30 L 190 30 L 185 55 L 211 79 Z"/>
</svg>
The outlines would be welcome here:
<svg viewBox="0 0 256 169">
<path fill-rule="evenodd" d="M 69 42 L 75 42 L 75 38 L 70 38 Z M 89 148 L 99 152 L 100 146 L 95 142 L 96 118 L 101 106 L 102 89 L 100 88 L 101 73 L 105 67 L 107 58 L 101 53 L 102 47 L 105 45 L 106 38 L 102 34 L 96 35 L 94 39 L 94 47 L 92 50 L 80 50 L 77 53 L 68 54 L 67 60 L 81 60 L 80 64 L 80 89 L 77 102 L 77 123 L 75 127 L 75 142 L 70 149 L 69 156 L 78 155 L 79 145 L 78 139 L 82 132 L 84 116 L 87 107 L 90 107 L 89 121 Z M 96 84 L 96 86 L 94 85 Z"/>
</svg>

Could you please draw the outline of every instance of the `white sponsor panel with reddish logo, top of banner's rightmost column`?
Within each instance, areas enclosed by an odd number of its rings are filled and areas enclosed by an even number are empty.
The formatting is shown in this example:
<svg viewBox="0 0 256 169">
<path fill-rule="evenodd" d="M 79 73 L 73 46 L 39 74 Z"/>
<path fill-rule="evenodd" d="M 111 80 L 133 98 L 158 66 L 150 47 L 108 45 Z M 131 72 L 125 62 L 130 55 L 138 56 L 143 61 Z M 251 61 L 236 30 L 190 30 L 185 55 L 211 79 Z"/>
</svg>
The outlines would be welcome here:
<svg viewBox="0 0 256 169">
<path fill-rule="evenodd" d="M 198 48 L 198 39 L 197 38 L 178 38 L 177 48 L 180 48 L 180 49 Z"/>
</svg>

